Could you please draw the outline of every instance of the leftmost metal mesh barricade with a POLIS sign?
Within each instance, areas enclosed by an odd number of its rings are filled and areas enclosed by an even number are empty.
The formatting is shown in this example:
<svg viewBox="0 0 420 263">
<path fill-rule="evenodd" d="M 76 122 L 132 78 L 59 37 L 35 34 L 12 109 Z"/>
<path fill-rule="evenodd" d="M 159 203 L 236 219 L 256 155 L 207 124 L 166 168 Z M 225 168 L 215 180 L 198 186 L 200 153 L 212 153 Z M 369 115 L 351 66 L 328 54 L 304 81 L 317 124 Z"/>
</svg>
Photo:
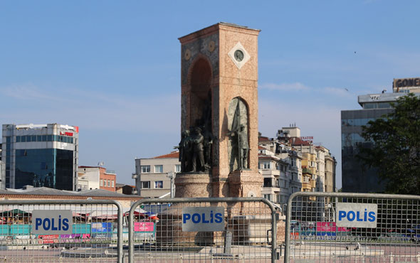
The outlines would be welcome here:
<svg viewBox="0 0 420 263">
<path fill-rule="evenodd" d="M 122 262 L 115 200 L 0 200 L 1 262 Z"/>
</svg>

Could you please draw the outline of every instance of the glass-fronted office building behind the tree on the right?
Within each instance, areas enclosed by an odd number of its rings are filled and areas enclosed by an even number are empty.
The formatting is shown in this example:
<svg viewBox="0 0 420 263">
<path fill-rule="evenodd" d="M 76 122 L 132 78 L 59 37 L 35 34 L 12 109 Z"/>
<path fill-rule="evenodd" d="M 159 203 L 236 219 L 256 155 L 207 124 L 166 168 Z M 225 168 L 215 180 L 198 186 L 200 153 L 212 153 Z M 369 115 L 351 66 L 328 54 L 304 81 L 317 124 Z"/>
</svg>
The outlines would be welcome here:
<svg viewBox="0 0 420 263">
<path fill-rule="evenodd" d="M 353 193 L 382 193 L 385 182 L 381 181 L 375 168 L 368 168 L 357 158 L 359 147 L 370 147 L 364 141 L 362 126 L 394 109 L 391 102 L 409 92 L 420 95 L 420 78 L 394 79 L 393 92 L 383 90 L 379 94 L 359 95 L 362 109 L 341 112 L 342 190 Z"/>
</svg>

